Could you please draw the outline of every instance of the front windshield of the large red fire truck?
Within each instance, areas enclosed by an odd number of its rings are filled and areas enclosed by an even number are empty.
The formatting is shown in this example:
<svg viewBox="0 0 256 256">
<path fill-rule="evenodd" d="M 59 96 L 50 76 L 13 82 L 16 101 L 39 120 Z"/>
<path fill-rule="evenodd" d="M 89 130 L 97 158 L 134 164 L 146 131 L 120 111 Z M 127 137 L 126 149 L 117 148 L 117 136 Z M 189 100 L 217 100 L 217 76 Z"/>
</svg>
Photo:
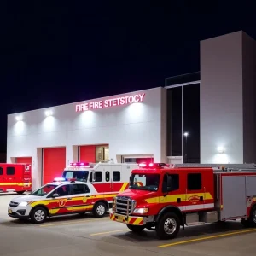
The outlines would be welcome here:
<svg viewBox="0 0 256 256">
<path fill-rule="evenodd" d="M 131 175 L 131 183 L 129 189 L 142 189 L 149 191 L 157 191 L 160 183 L 160 174 L 138 174 Z"/>
</svg>

